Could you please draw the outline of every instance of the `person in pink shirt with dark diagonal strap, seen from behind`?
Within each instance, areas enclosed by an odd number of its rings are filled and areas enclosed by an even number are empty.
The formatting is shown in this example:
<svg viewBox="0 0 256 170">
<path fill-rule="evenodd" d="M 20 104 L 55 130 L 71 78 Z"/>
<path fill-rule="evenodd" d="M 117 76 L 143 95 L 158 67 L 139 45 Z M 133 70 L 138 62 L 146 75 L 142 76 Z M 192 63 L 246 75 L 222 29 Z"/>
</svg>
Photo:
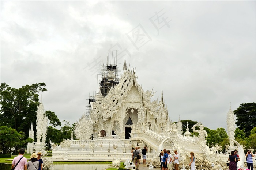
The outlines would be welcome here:
<svg viewBox="0 0 256 170">
<path fill-rule="evenodd" d="M 19 155 L 12 160 L 12 169 L 27 170 L 27 158 L 23 157 L 24 153 L 24 149 L 19 150 Z"/>
</svg>

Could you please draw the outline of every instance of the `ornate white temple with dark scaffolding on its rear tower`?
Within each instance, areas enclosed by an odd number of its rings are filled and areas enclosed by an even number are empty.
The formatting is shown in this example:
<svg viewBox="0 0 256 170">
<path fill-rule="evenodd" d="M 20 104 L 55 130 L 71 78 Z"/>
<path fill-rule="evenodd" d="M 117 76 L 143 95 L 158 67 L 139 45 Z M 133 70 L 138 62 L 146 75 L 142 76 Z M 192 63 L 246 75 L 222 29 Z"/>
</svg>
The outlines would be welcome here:
<svg viewBox="0 0 256 170">
<path fill-rule="evenodd" d="M 226 161 L 227 155 L 218 153 L 221 146 L 210 149 L 206 145 L 207 133 L 202 123 L 192 128 L 199 137 L 192 137 L 188 126 L 182 135 L 182 123 L 169 119 L 163 92 L 160 101 L 151 102 L 154 92 L 142 89 L 135 69 L 127 68 L 126 62 L 120 79 L 117 64 L 103 68 L 100 92 L 89 99 L 89 111 L 76 124 L 74 134 L 79 140 L 64 140 L 59 146 L 51 143 L 53 161 L 125 161 L 131 158 L 131 148 L 135 146 L 147 146 L 148 159 L 159 160 L 159 151 L 166 148 L 171 152 L 177 149 L 180 161 L 189 159 L 191 151 L 198 159 L 211 163 Z"/>
</svg>

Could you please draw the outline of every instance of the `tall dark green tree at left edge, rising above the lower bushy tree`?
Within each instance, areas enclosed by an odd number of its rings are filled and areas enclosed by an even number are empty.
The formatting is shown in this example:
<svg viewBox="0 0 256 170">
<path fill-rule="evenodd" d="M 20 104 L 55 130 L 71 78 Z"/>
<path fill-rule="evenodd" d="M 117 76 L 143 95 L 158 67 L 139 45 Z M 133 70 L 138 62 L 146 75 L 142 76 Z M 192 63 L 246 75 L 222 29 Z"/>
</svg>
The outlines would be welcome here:
<svg viewBox="0 0 256 170">
<path fill-rule="evenodd" d="M 16 89 L 1 83 L 0 126 L 5 125 L 17 131 L 23 131 L 27 136 L 31 123 L 36 120 L 35 115 L 39 104 L 37 92 L 47 91 L 45 86 L 45 83 L 38 83 Z"/>
</svg>

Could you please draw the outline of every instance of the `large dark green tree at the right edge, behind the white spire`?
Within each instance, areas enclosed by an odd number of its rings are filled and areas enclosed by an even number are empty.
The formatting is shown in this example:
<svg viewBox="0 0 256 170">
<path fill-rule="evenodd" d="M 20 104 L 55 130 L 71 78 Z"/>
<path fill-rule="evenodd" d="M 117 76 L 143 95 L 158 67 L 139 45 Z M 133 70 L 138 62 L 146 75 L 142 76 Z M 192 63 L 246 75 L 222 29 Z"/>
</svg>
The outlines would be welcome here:
<svg viewBox="0 0 256 170">
<path fill-rule="evenodd" d="M 256 126 L 256 103 L 243 103 L 234 110 L 237 116 L 236 125 L 245 132 L 245 137 L 249 137 L 250 131 Z"/>
</svg>

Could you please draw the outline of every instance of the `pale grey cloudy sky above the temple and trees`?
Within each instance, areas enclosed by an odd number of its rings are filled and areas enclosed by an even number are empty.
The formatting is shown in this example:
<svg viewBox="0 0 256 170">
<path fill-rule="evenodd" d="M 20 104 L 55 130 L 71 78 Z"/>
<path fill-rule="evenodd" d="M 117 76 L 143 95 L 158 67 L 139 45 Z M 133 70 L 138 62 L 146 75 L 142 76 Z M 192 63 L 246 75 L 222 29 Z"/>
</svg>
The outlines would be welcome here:
<svg viewBox="0 0 256 170">
<path fill-rule="evenodd" d="M 256 100 L 255 1 L 1 1 L 1 83 L 46 83 L 45 110 L 74 123 L 100 66 L 124 60 L 171 120 L 226 128 Z M 41 95 L 41 94 L 40 94 Z"/>
</svg>

